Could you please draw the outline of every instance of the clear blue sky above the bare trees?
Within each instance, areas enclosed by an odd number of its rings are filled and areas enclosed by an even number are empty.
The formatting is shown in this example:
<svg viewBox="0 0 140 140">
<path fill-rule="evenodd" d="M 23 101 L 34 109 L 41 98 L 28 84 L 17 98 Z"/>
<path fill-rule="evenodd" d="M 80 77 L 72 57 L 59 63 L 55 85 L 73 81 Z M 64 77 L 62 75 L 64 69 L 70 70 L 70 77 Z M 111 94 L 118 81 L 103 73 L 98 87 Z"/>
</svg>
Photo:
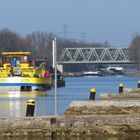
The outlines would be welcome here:
<svg viewBox="0 0 140 140">
<path fill-rule="evenodd" d="M 3 28 L 128 47 L 140 33 L 140 0 L 0 0 Z"/>
</svg>

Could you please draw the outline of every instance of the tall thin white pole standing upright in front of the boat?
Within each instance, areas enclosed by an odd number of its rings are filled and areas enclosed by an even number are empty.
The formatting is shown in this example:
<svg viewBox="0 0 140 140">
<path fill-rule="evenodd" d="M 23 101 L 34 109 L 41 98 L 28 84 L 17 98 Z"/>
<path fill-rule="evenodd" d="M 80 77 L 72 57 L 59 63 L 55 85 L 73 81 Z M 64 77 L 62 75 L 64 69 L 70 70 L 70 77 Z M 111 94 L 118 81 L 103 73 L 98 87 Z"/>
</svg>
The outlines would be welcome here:
<svg viewBox="0 0 140 140">
<path fill-rule="evenodd" d="M 53 39 L 53 48 L 54 48 L 54 70 L 55 70 L 55 80 L 54 80 L 54 88 L 55 88 L 55 116 L 57 116 L 57 49 L 56 49 L 56 38 Z"/>
</svg>

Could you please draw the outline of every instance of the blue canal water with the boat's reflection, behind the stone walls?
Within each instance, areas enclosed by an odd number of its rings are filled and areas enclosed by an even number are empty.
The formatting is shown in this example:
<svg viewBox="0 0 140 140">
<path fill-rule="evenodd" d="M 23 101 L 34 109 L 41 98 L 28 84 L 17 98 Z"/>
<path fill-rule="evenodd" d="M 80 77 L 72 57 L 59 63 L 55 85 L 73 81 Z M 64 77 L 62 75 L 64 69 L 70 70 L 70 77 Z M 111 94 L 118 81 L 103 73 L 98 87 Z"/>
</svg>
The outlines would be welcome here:
<svg viewBox="0 0 140 140">
<path fill-rule="evenodd" d="M 140 77 L 68 77 L 66 86 L 57 89 L 58 114 L 65 112 L 72 101 L 88 100 L 90 88 L 96 88 L 96 100 L 101 93 L 118 92 L 120 83 L 135 88 Z M 35 116 L 54 115 L 54 89 L 46 92 L 0 92 L 0 117 L 24 117 L 27 101 L 36 102 Z"/>
</svg>

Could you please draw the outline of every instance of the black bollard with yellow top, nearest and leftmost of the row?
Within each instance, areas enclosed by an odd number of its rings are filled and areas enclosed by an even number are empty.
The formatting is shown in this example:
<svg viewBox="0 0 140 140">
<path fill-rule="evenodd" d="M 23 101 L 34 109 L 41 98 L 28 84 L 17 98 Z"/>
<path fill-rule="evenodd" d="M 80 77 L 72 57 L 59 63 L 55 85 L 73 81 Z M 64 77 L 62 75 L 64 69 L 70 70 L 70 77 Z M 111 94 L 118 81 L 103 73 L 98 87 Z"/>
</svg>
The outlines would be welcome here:
<svg viewBox="0 0 140 140">
<path fill-rule="evenodd" d="M 35 100 L 29 99 L 27 101 L 26 117 L 34 116 Z"/>
</svg>

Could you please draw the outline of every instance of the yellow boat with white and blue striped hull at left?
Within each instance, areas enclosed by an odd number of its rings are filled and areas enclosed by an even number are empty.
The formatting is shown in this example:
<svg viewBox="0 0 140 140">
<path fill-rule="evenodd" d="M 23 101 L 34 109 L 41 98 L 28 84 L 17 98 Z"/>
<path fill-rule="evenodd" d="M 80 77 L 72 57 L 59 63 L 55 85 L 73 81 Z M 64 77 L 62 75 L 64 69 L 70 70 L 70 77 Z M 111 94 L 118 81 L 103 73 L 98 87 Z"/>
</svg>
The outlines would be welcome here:
<svg viewBox="0 0 140 140">
<path fill-rule="evenodd" d="M 36 91 L 52 87 L 52 78 L 44 77 L 43 65 L 31 66 L 30 52 L 3 52 L 0 59 L 0 91 Z"/>
</svg>

